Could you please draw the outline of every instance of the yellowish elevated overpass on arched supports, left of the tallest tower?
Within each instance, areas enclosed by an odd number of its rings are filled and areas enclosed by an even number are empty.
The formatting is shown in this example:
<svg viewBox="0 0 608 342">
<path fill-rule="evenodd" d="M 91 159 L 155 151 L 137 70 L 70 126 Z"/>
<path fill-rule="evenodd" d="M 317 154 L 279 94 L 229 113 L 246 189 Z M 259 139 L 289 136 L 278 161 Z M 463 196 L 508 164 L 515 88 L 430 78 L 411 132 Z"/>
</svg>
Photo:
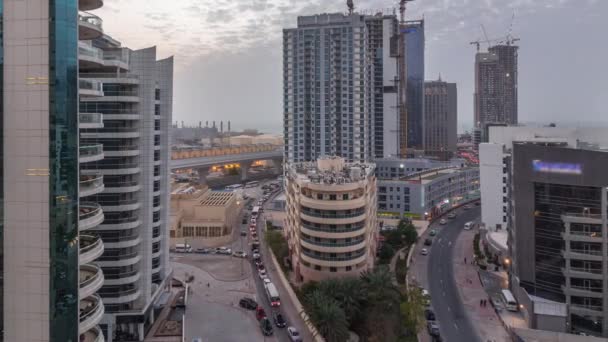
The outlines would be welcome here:
<svg viewBox="0 0 608 342">
<path fill-rule="evenodd" d="M 283 147 L 230 147 L 205 150 L 174 151 L 171 158 L 171 170 L 195 169 L 199 182 L 205 183 L 209 169 L 225 164 L 239 164 L 241 180 L 248 179 L 251 164 L 258 160 L 270 160 L 280 173 L 283 162 Z"/>
</svg>

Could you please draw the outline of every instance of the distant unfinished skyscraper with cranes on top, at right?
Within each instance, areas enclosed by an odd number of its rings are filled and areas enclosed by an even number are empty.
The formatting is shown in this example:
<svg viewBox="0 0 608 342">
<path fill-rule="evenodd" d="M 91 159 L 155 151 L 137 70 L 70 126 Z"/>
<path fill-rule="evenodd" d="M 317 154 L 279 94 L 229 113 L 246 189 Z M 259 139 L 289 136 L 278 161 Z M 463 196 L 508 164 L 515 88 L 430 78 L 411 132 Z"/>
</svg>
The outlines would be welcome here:
<svg viewBox="0 0 608 342">
<path fill-rule="evenodd" d="M 475 126 L 482 131 L 488 124 L 517 124 L 518 49 L 495 45 L 475 55 Z"/>
</svg>

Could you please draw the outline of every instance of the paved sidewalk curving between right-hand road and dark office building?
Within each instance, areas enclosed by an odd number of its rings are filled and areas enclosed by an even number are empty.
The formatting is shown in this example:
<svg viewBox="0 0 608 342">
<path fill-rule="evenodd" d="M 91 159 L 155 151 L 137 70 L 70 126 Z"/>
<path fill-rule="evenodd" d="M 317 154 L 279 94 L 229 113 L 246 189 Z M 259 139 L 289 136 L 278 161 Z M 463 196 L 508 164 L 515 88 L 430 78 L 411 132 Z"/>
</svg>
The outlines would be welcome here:
<svg viewBox="0 0 608 342">
<path fill-rule="evenodd" d="M 462 298 L 462 303 L 475 324 L 477 332 L 484 342 L 487 341 L 511 341 L 509 334 L 502 325 L 500 318 L 494 311 L 491 298 L 487 295 L 479 274 L 477 266 L 472 265 L 473 260 L 473 238 L 476 231 L 463 231 L 456 240 L 454 248 L 454 277 Z M 467 263 L 465 264 L 464 258 Z M 485 299 L 487 306 L 481 307 L 479 302 Z"/>
</svg>

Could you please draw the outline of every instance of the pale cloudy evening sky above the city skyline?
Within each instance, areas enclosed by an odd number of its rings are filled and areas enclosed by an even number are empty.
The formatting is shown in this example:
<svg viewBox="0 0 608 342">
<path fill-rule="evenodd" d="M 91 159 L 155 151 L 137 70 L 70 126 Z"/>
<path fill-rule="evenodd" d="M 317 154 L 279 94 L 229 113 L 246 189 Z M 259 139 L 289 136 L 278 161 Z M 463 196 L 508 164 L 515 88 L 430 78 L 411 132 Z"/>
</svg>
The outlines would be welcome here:
<svg viewBox="0 0 608 342">
<path fill-rule="evenodd" d="M 357 10 L 398 0 L 354 0 Z M 94 13 L 132 49 L 173 55 L 173 121 L 231 120 L 233 130 L 282 131 L 282 29 L 299 15 L 346 11 L 346 0 L 106 0 Z M 513 16 L 515 14 L 515 16 Z M 457 83 L 459 131 L 473 123 L 475 47 L 519 42 L 520 121 L 608 125 L 607 0 L 416 0 L 424 16 L 426 79 Z M 512 23 L 512 24 L 511 24 Z M 482 44 L 482 48 L 485 45 Z"/>
</svg>

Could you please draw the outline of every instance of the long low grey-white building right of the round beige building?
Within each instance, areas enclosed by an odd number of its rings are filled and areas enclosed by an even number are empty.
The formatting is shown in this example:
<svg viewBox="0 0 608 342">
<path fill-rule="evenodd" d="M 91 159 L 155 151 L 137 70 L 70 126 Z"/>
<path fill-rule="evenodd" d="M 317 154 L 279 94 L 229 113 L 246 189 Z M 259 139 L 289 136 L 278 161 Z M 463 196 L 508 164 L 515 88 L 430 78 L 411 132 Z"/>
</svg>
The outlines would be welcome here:
<svg viewBox="0 0 608 342">
<path fill-rule="evenodd" d="M 479 169 L 440 167 L 378 180 L 381 215 L 428 218 L 479 198 Z"/>
</svg>

